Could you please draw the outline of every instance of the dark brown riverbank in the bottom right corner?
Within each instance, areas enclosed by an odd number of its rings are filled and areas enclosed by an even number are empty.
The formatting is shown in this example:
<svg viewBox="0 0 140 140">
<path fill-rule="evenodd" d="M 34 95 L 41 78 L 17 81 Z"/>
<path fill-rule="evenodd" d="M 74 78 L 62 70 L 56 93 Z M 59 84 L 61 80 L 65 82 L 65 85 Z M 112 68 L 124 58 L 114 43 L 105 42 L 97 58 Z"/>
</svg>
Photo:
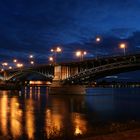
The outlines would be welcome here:
<svg viewBox="0 0 140 140">
<path fill-rule="evenodd" d="M 111 125 L 97 126 L 89 129 L 89 134 L 79 135 L 76 140 L 140 140 L 140 122 L 112 123 Z"/>
</svg>

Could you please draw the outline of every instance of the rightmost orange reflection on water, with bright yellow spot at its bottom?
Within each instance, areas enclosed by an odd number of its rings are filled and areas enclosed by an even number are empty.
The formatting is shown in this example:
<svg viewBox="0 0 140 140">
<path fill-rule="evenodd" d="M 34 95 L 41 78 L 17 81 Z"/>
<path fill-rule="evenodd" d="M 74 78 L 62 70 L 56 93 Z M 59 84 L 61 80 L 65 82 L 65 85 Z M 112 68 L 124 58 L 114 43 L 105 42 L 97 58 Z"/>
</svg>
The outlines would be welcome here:
<svg viewBox="0 0 140 140">
<path fill-rule="evenodd" d="M 81 135 L 87 132 L 87 123 L 79 113 L 72 114 L 72 123 L 74 126 L 74 135 Z"/>
</svg>

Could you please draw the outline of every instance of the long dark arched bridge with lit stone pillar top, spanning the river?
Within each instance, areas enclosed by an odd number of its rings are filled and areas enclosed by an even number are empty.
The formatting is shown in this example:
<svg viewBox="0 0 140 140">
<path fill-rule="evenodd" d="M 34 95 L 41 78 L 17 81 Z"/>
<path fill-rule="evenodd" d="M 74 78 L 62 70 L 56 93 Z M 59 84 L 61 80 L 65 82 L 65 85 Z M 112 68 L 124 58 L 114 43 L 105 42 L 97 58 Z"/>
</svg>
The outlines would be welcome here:
<svg viewBox="0 0 140 140">
<path fill-rule="evenodd" d="M 30 74 L 42 75 L 45 80 L 59 81 L 61 84 L 83 84 L 105 76 L 139 70 L 140 54 L 105 57 L 57 65 L 38 65 L 22 69 L 7 70 L 3 80 L 24 79 Z"/>
</svg>

